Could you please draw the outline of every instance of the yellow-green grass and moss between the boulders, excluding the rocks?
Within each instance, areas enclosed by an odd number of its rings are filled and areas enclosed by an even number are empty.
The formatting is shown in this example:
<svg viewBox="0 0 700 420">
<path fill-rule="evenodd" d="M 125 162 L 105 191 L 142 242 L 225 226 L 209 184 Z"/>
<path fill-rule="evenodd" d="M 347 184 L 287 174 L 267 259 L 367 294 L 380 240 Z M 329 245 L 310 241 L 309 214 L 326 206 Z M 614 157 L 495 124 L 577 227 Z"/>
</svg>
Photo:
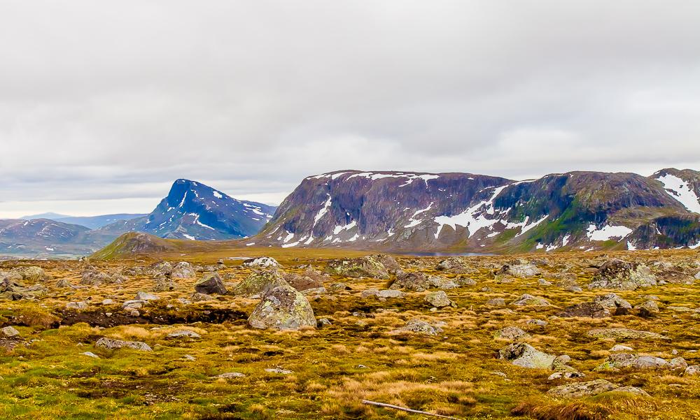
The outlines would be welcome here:
<svg viewBox="0 0 700 420">
<path fill-rule="evenodd" d="M 201 250 L 178 250 L 158 256 L 109 261 L 7 261 L 0 270 L 39 265 L 51 278 L 35 300 L 6 300 L 0 307 L 0 326 L 14 326 L 20 339 L 0 339 L 0 418 L 19 419 L 422 419 L 416 414 L 363 405 L 362 400 L 410 407 L 458 419 L 696 419 L 700 418 L 700 377 L 671 370 L 596 370 L 611 354 L 612 339 L 592 338 L 591 328 L 625 327 L 653 331 L 668 340 L 627 340 L 635 353 L 664 359 L 682 356 L 699 364 L 700 289 L 694 284 L 669 282 L 650 289 L 615 291 L 633 305 L 647 294 L 659 298 L 661 311 L 650 317 L 636 312 L 602 319 L 556 317 L 563 307 L 590 301 L 610 291 L 585 287 L 593 274 L 591 263 L 607 256 L 591 253 L 547 255 L 542 275 L 514 278 L 495 275 L 505 263 L 542 256 L 465 257 L 468 277 L 476 285 L 448 289 L 457 307 L 431 310 L 423 301 L 428 292 L 410 292 L 402 298 L 363 297 L 362 292 L 386 289 L 386 280 L 332 276 L 324 281 L 345 282 L 351 290 L 309 296 L 316 318 L 332 325 L 300 331 L 259 331 L 249 328 L 247 315 L 258 299 L 217 296 L 216 300 L 183 305 L 196 278 L 174 280 L 176 289 L 158 292 L 160 300 L 125 316 L 122 303 L 137 291 L 151 292 L 151 275 L 125 276 L 120 284 L 60 288 L 57 281 L 80 284 L 89 265 L 105 273 L 127 273 L 160 259 L 189 261 L 202 266 L 224 259 L 219 274 L 233 284 L 251 273 L 241 266 L 248 256 L 277 259 L 283 270 L 304 273 L 309 264 L 325 268 L 327 259 L 353 257 L 363 252 L 335 249 L 279 249 L 200 245 Z M 186 253 L 186 254 L 185 254 Z M 185 255 L 183 255 L 185 254 Z M 694 251 L 626 252 L 614 254 L 646 263 L 661 278 L 664 262 L 673 267 L 700 270 Z M 230 259 L 231 257 L 237 259 Z M 456 280 L 463 274 L 437 271 L 440 259 L 397 256 L 407 272 L 442 275 Z M 664 268 L 666 269 L 666 268 Z M 557 287 L 561 273 L 573 276 L 583 291 Z M 201 277 L 201 273 L 197 274 Z M 541 286 L 542 277 L 554 283 Z M 393 277 L 392 277 L 393 278 Z M 683 277 L 684 279 L 688 278 Z M 692 279 L 692 275 L 689 277 Z M 390 280 L 391 282 L 391 280 Z M 26 282 L 25 282 L 26 283 Z M 29 284 L 26 284 L 27 286 Z M 330 290 L 330 289 L 329 289 Z M 547 307 L 494 307 L 493 298 L 507 303 L 522 294 L 545 298 Z M 104 299 L 114 303 L 102 305 Z M 66 309 L 66 303 L 89 303 L 84 310 Z M 688 307 L 687 312 L 668 307 Z M 108 315 L 109 314 L 109 315 Z M 414 318 L 442 325 L 437 336 L 396 333 Z M 545 320 L 547 326 L 526 324 Z M 584 379 L 548 380 L 551 370 L 527 369 L 499 360 L 495 354 L 507 341 L 493 335 L 505 326 L 518 326 L 524 339 L 548 354 L 568 354 L 570 365 Z M 189 330 L 201 338 L 168 338 Z M 146 342 L 153 352 L 96 347 L 101 337 Z M 676 352 L 673 352 L 676 350 Z M 92 352 L 94 359 L 83 355 Z M 265 369 L 281 369 L 268 372 Z M 285 373 L 284 370 L 290 371 Z M 245 377 L 217 379 L 225 372 Z M 649 397 L 626 393 L 562 399 L 547 390 L 580 380 L 607 379 L 636 386 Z"/>
</svg>

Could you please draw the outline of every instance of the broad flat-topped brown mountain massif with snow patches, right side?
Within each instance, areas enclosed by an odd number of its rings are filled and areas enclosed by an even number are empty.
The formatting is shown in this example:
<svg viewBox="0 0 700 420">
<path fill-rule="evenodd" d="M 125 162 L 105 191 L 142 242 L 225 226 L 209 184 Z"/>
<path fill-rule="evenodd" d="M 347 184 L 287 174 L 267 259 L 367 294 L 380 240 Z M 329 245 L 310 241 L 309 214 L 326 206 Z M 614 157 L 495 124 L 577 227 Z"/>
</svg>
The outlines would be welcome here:
<svg viewBox="0 0 700 420">
<path fill-rule="evenodd" d="M 700 246 L 700 173 L 337 171 L 305 178 L 247 244 L 551 252 Z"/>
</svg>

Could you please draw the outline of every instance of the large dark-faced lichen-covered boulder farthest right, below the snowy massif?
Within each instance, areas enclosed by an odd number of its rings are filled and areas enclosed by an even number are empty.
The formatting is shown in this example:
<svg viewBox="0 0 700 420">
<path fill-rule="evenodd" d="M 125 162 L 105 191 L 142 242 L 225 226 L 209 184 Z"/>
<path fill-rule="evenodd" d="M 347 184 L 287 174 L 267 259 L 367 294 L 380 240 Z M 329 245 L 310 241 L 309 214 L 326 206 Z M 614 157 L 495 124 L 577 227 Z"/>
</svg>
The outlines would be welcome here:
<svg viewBox="0 0 700 420">
<path fill-rule="evenodd" d="M 657 284 L 649 267 L 621 259 L 605 261 L 591 280 L 589 289 L 635 290 Z"/>
</svg>

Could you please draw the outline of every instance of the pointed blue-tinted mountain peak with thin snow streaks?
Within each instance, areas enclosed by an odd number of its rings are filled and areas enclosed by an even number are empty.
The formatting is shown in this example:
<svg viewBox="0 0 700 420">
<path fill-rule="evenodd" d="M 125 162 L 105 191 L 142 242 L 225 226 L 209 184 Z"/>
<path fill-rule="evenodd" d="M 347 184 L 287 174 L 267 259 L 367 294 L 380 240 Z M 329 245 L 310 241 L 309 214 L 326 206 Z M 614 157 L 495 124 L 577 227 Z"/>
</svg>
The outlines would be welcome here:
<svg viewBox="0 0 700 420">
<path fill-rule="evenodd" d="M 151 214 L 108 224 L 97 231 L 114 235 L 139 231 L 160 238 L 189 240 L 240 239 L 258 233 L 275 208 L 241 201 L 201 182 L 176 180 Z"/>
</svg>

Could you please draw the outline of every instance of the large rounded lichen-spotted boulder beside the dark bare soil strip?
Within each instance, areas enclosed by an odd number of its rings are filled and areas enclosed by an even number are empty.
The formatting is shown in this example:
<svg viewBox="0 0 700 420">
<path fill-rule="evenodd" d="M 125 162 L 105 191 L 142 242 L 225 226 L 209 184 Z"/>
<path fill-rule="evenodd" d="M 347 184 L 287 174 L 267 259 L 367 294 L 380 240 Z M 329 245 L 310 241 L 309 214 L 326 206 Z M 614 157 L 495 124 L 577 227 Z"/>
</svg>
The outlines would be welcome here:
<svg viewBox="0 0 700 420">
<path fill-rule="evenodd" d="M 316 318 L 309 300 L 286 285 L 265 294 L 248 317 L 248 325 L 260 329 L 297 330 L 316 327 Z"/>
</svg>

